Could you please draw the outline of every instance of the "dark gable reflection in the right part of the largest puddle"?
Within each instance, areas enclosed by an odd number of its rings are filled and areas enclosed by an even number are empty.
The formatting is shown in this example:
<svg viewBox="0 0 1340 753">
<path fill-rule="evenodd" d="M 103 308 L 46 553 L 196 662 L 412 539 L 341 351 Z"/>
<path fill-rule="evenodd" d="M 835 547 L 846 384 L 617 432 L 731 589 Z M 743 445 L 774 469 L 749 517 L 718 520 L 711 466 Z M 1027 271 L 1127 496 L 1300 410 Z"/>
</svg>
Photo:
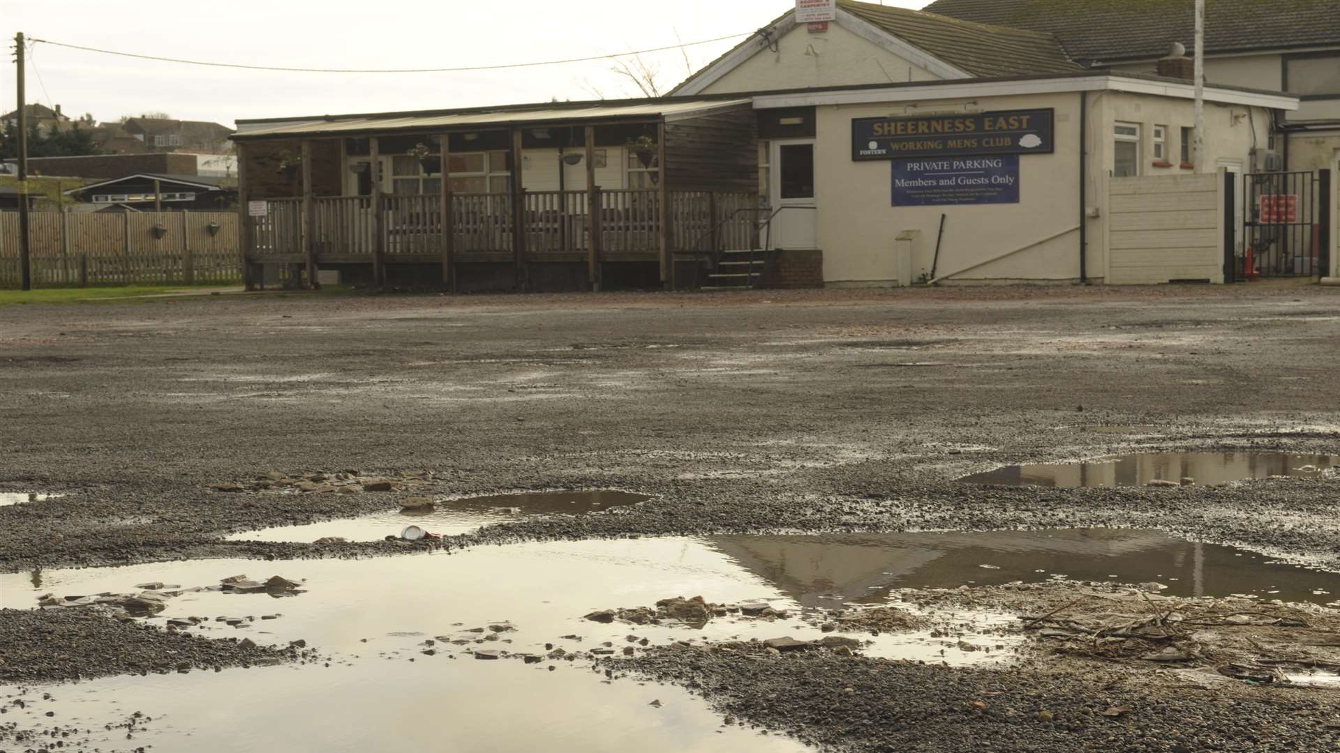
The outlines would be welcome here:
<svg viewBox="0 0 1340 753">
<path fill-rule="evenodd" d="M 1159 531 L 1073 528 L 973 533 L 718 536 L 710 545 L 804 606 L 882 603 L 896 588 L 1022 580 L 1156 581 L 1163 594 L 1340 606 L 1340 575 L 1273 564 Z"/>
</svg>

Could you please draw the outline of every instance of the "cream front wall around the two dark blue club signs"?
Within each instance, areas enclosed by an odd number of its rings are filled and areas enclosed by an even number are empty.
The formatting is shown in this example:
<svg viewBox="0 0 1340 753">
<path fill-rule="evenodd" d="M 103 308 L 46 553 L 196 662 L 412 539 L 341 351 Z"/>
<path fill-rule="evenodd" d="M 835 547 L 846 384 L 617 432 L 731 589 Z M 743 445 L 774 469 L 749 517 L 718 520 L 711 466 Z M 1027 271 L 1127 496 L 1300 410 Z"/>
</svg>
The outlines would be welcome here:
<svg viewBox="0 0 1340 753">
<path fill-rule="evenodd" d="M 921 102 L 917 111 L 980 111 L 1053 107 L 1056 153 L 1020 155 L 1020 202 L 963 206 L 891 206 L 887 161 L 851 159 L 851 121 L 913 111 L 906 103 L 820 106 L 815 145 L 815 192 L 824 280 L 829 284 L 892 284 L 894 237 L 919 230 L 913 277 L 929 272 L 939 216 L 946 214 L 937 273 L 950 273 L 1032 244 L 1079 224 L 1079 94 Z M 1092 226 L 1092 224 L 1091 224 Z M 1096 233 L 1093 237 L 1100 237 Z M 1100 275 L 1100 248 L 1089 247 L 1091 275 Z M 955 280 L 1073 280 L 1079 277 L 1079 230 L 993 261 Z"/>
</svg>

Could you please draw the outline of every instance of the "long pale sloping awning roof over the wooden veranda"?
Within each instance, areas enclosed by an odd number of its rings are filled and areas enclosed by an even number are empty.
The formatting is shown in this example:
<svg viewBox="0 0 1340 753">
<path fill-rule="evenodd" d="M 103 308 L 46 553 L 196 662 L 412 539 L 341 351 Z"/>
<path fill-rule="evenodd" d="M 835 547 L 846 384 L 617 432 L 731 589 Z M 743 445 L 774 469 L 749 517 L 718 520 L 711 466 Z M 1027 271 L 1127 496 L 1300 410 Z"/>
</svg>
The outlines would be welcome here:
<svg viewBox="0 0 1340 753">
<path fill-rule="evenodd" d="M 233 134 L 233 139 L 293 138 L 318 135 L 359 135 L 395 131 L 429 131 L 461 127 L 490 127 L 543 125 L 555 122 L 655 119 L 689 117 L 694 113 L 720 110 L 748 105 L 750 99 L 695 99 L 689 102 L 647 100 L 628 105 L 596 105 L 575 107 L 540 107 L 533 110 L 466 110 L 442 113 L 438 115 L 356 115 L 348 118 L 332 117 L 320 121 L 299 121 L 284 123 L 257 123 L 259 127 L 244 127 Z"/>
</svg>

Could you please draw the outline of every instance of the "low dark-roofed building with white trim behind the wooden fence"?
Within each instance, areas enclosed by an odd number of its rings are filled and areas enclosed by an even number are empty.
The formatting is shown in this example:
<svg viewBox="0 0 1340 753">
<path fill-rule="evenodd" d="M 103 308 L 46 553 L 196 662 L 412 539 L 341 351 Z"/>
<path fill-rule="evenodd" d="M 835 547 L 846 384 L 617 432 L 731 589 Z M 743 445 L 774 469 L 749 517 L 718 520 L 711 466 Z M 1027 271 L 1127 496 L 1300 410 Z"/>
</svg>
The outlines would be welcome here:
<svg viewBox="0 0 1340 753">
<path fill-rule="evenodd" d="M 119 208 L 133 212 L 176 212 L 229 209 L 237 189 L 212 176 L 137 173 L 88 184 L 66 192 L 91 205 L 91 210 Z"/>
</svg>

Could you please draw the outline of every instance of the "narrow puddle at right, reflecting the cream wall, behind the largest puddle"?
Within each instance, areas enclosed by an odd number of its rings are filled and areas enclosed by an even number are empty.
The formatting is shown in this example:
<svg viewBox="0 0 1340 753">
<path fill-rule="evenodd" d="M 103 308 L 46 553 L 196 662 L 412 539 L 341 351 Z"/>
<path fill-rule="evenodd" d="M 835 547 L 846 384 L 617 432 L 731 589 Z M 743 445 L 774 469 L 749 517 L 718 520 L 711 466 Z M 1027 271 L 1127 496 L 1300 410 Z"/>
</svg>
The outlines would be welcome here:
<svg viewBox="0 0 1340 753">
<path fill-rule="evenodd" d="M 1317 476 L 1332 456 L 1222 452 L 1138 453 L 1069 464 L 1008 465 L 959 478 L 965 484 L 1008 486 L 1144 486 L 1151 481 L 1198 485 L 1270 476 Z"/>
</svg>

